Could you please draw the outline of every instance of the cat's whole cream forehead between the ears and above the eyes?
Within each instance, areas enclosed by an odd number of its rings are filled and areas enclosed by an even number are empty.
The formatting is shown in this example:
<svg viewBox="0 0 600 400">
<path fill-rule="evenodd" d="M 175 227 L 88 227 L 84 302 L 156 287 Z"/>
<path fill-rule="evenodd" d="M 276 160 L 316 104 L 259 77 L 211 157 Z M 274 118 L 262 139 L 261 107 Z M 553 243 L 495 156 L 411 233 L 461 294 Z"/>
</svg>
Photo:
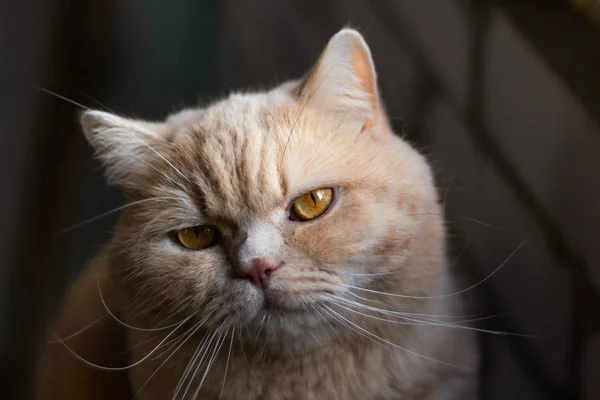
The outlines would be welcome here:
<svg viewBox="0 0 600 400">
<path fill-rule="evenodd" d="M 310 105 L 236 95 L 185 127 L 173 153 L 206 216 L 239 220 L 269 214 L 288 195 L 356 184 L 385 169 L 381 146 L 360 128 Z"/>
</svg>

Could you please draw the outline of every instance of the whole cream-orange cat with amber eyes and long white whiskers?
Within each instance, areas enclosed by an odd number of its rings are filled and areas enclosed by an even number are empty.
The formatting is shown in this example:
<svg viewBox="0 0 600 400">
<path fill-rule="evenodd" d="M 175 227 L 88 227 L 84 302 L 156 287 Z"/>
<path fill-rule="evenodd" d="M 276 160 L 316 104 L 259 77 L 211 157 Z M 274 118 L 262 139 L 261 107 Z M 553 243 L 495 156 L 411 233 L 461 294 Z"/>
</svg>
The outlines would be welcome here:
<svg viewBox="0 0 600 400">
<path fill-rule="evenodd" d="M 269 91 L 81 124 L 127 205 L 66 297 L 39 399 L 476 398 L 431 168 L 356 30 Z"/>
</svg>

